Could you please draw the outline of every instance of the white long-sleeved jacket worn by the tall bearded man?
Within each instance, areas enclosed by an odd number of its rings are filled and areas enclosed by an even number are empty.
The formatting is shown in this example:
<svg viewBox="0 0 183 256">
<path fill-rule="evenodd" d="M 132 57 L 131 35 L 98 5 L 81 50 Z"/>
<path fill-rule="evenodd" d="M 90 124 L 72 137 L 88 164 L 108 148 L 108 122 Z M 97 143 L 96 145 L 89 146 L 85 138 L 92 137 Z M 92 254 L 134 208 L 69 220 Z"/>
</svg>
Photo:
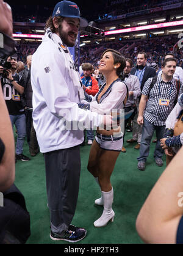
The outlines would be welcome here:
<svg viewBox="0 0 183 256">
<path fill-rule="evenodd" d="M 83 90 L 79 77 L 68 48 L 47 29 L 31 65 L 32 117 L 42 153 L 79 145 L 91 120 L 93 128 L 102 123 L 102 115 L 78 108 Z M 75 130 L 66 130 L 63 117 Z"/>
</svg>

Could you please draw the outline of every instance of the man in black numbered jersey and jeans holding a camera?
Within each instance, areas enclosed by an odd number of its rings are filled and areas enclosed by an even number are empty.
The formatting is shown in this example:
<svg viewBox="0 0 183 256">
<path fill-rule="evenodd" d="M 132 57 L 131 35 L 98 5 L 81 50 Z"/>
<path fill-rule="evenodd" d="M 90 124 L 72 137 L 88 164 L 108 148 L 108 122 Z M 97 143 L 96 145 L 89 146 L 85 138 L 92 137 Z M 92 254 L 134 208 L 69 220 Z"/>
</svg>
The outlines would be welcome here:
<svg viewBox="0 0 183 256">
<path fill-rule="evenodd" d="M 7 104 L 12 126 L 15 124 L 17 130 L 16 155 L 15 158 L 21 161 L 29 161 L 30 158 L 23 155 L 23 145 L 26 137 L 26 116 L 21 100 L 21 94 L 24 92 L 24 87 L 20 86 L 18 74 L 15 73 L 17 68 L 17 55 L 8 57 L 12 67 L 9 70 L 4 70 L 0 66 L 1 85 L 4 94 L 4 100 Z"/>
</svg>

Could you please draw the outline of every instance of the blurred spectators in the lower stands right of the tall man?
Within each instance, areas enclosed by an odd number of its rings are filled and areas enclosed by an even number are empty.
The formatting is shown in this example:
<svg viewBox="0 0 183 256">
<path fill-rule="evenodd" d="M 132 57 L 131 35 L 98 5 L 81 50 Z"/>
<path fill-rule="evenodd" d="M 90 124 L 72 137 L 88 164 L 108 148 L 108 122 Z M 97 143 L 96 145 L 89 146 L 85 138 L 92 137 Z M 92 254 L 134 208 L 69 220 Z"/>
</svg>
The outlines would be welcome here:
<svg viewBox="0 0 183 256">
<path fill-rule="evenodd" d="M 124 57 L 137 61 L 137 53 L 145 51 L 147 54 L 147 65 L 159 70 L 162 66 L 166 53 L 173 52 L 173 47 L 178 42 L 178 35 L 167 35 L 163 37 L 152 37 L 149 39 L 122 40 L 118 42 L 104 42 L 100 45 L 85 45 L 81 48 L 81 62 L 90 62 L 96 67 L 98 54 L 107 48 L 117 49 Z M 133 46 L 132 46 L 133 45 Z M 178 49 L 174 56 L 177 65 L 183 67 L 183 49 Z"/>
</svg>

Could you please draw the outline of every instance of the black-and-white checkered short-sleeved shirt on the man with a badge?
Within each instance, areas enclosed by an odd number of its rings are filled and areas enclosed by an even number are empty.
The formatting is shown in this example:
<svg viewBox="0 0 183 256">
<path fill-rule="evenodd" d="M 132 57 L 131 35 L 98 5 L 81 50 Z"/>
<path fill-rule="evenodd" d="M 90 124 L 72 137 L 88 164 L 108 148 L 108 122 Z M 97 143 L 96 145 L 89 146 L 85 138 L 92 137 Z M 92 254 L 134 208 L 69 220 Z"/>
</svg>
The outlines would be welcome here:
<svg viewBox="0 0 183 256">
<path fill-rule="evenodd" d="M 176 80 L 164 82 L 162 76 L 157 77 L 156 84 L 151 89 L 152 78 L 145 82 L 142 94 L 148 96 L 144 117 L 150 123 L 156 126 L 165 125 L 168 115 L 174 108 L 174 100 L 177 96 Z M 181 83 L 179 95 L 183 92 L 183 85 Z M 169 100 L 168 106 L 159 104 L 159 100 Z"/>
</svg>

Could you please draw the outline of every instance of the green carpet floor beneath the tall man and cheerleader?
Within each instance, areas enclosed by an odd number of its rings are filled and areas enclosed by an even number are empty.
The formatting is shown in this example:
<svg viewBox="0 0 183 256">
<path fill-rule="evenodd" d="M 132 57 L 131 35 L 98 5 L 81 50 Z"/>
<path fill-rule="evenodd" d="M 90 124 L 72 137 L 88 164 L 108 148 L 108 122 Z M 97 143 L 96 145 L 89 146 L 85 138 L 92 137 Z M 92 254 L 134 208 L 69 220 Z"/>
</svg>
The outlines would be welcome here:
<svg viewBox="0 0 183 256">
<path fill-rule="evenodd" d="M 132 133 L 126 133 L 130 139 Z M 16 139 L 16 138 L 15 138 Z M 124 244 L 143 243 L 135 230 L 135 220 L 146 197 L 165 169 L 154 163 L 153 152 L 155 144 L 151 143 L 150 155 L 145 172 L 137 169 L 139 150 L 135 144 L 124 143 L 126 153 L 120 153 L 112 174 L 114 190 L 113 210 L 115 218 L 106 227 L 96 228 L 93 222 L 102 214 L 102 207 L 94 205 L 100 197 L 99 187 L 87 171 L 87 161 L 90 146 L 81 147 L 81 180 L 79 197 L 73 224 L 87 229 L 87 236 L 78 244 Z M 27 142 L 24 144 L 24 155 L 29 155 Z M 49 238 L 49 210 L 46 199 L 45 165 L 43 155 L 39 153 L 31 157 L 29 162 L 16 163 L 15 185 L 24 194 L 27 210 L 30 213 L 31 235 L 27 244 L 64 243 L 52 241 Z M 66 243 L 66 242 L 65 242 Z M 68 244 L 68 243 L 67 243 Z"/>
</svg>

